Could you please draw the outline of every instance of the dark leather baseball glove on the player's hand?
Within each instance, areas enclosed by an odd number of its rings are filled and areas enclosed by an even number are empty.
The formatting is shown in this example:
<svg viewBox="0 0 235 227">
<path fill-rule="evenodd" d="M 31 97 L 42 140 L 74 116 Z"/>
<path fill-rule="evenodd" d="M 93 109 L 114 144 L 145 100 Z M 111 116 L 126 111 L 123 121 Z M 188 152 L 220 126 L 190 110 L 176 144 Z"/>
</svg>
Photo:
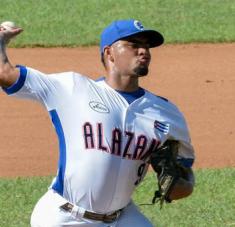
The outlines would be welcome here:
<svg viewBox="0 0 235 227">
<path fill-rule="evenodd" d="M 167 140 L 151 154 L 150 163 L 158 179 L 158 190 L 152 203 L 160 202 L 160 208 L 164 202 L 171 202 L 169 195 L 172 188 L 183 175 L 183 167 L 177 163 L 178 144 L 178 141 Z"/>
</svg>

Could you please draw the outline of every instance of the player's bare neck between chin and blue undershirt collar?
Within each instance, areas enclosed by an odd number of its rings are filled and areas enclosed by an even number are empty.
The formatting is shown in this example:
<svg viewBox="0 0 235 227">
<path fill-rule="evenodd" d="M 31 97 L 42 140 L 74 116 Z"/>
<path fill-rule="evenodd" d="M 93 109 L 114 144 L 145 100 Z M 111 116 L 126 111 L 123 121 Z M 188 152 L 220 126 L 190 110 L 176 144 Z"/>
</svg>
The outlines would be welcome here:
<svg viewBox="0 0 235 227">
<path fill-rule="evenodd" d="M 138 77 L 130 76 L 108 76 L 106 83 L 115 90 L 133 92 L 139 89 Z"/>
</svg>

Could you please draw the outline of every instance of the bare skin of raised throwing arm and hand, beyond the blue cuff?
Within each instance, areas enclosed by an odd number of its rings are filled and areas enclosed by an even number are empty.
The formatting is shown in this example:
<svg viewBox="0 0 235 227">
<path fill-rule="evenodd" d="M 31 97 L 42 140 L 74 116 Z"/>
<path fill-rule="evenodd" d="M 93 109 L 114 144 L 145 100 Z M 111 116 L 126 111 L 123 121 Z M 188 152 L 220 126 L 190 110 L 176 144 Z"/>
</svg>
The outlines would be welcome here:
<svg viewBox="0 0 235 227">
<path fill-rule="evenodd" d="M 0 27 L 0 86 L 3 88 L 10 87 L 19 78 L 19 69 L 11 65 L 6 54 L 6 46 L 13 37 L 22 31 L 21 28 L 9 31 Z"/>
</svg>

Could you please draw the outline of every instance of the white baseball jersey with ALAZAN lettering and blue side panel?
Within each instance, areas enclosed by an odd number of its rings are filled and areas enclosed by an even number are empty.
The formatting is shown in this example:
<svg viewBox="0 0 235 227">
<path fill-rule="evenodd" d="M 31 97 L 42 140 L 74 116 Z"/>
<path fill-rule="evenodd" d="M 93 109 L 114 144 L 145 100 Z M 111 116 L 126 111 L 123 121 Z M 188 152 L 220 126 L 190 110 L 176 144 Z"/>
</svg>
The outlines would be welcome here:
<svg viewBox="0 0 235 227">
<path fill-rule="evenodd" d="M 59 139 L 51 187 L 68 201 L 97 213 L 125 207 L 146 174 L 146 157 L 167 139 L 180 141 L 179 158 L 192 165 L 186 122 L 169 101 L 142 89 L 128 103 L 105 80 L 19 67 L 19 79 L 5 91 L 37 100 L 50 113 Z"/>
</svg>

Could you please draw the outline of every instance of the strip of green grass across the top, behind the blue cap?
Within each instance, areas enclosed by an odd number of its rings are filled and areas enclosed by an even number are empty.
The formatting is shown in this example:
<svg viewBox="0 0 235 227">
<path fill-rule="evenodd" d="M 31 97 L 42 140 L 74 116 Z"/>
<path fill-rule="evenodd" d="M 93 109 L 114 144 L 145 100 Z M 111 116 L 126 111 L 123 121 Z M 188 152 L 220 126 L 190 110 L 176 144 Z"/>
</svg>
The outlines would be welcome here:
<svg viewBox="0 0 235 227">
<path fill-rule="evenodd" d="M 25 30 L 15 47 L 98 44 L 102 29 L 124 18 L 158 29 L 167 43 L 235 41 L 233 0 L 0 0 L 0 6 L 0 21 Z"/>
</svg>

